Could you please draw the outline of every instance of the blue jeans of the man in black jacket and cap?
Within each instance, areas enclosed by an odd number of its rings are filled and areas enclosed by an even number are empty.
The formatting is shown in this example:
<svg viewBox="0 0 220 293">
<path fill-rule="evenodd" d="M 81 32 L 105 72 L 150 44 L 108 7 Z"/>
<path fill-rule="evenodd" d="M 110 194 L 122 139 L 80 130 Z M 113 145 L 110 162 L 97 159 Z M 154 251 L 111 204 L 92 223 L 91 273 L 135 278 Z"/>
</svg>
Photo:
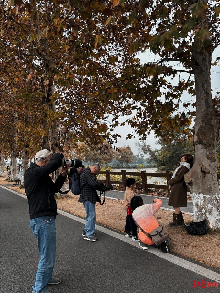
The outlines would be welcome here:
<svg viewBox="0 0 220 293">
<path fill-rule="evenodd" d="M 55 263 L 56 255 L 56 216 L 43 216 L 30 220 L 30 227 L 37 238 L 40 254 L 35 285 L 32 286 L 34 293 L 47 290 Z"/>
</svg>

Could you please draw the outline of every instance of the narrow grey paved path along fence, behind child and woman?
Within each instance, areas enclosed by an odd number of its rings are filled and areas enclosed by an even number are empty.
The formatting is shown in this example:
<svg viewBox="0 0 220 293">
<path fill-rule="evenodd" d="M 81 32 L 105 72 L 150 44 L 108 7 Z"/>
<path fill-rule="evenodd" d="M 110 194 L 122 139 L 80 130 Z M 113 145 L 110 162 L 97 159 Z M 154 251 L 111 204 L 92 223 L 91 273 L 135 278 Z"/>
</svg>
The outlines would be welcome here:
<svg viewBox="0 0 220 293">
<path fill-rule="evenodd" d="M 67 186 L 67 188 L 69 188 L 69 184 L 66 184 L 66 186 Z M 98 190 L 97 190 L 97 193 L 99 194 Z M 166 209 L 173 210 L 172 206 L 168 205 L 169 198 L 167 198 L 167 197 L 149 196 L 149 195 L 145 195 L 145 194 L 136 194 L 136 195 L 140 195 L 143 198 L 144 204 L 151 204 L 152 200 L 154 198 L 161 198 L 163 201 L 162 207 L 166 208 Z M 109 190 L 105 193 L 105 196 L 124 200 L 124 191 L 122 192 L 122 191 L 117 191 L 117 190 Z M 193 213 L 192 201 L 187 201 L 187 207 L 185 207 L 185 208 L 181 207 L 181 211 Z"/>
</svg>

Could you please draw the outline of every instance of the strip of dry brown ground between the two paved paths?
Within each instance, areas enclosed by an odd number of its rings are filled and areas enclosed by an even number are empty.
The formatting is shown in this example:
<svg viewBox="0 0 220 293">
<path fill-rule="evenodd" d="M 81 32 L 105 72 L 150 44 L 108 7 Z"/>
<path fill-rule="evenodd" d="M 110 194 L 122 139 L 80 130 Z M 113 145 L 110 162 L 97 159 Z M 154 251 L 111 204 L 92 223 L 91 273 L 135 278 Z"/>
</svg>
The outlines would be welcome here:
<svg viewBox="0 0 220 293">
<path fill-rule="evenodd" d="M 8 181 L 0 178 L 0 184 L 8 185 Z M 25 194 L 25 190 L 19 186 L 10 186 L 11 189 Z M 86 216 L 83 204 L 78 202 L 79 196 L 73 198 L 57 198 L 58 208 L 76 216 Z M 126 211 L 122 200 L 106 198 L 104 205 L 96 204 L 96 222 L 110 227 L 119 232 L 125 232 Z M 184 214 L 184 221 L 192 222 L 193 216 Z M 185 257 L 195 259 L 201 263 L 220 269 L 220 232 L 209 231 L 206 235 L 193 236 L 186 232 L 184 226 L 170 227 L 173 213 L 168 210 L 158 210 L 155 214 L 159 224 L 162 224 L 171 237 L 170 250 Z"/>
</svg>

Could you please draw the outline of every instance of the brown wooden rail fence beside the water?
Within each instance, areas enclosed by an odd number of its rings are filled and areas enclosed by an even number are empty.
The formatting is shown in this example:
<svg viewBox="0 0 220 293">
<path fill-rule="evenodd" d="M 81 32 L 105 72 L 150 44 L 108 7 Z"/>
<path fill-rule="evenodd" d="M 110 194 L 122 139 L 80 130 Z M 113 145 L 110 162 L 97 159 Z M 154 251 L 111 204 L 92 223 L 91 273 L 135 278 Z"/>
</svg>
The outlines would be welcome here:
<svg viewBox="0 0 220 293">
<path fill-rule="evenodd" d="M 148 192 L 148 188 L 156 188 L 156 189 L 165 189 L 168 190 L 169 194 L 169 185 L 168 181 L 171 179 L 173 173 L 171 171 L 166 171 L 166 173 L 148 173 L 146 171 L 141 171 L 141 172 L 127 172 L 126 170 L 121 170 L 121 172 L 114 172 L 110 170 L 105 170 L 105 171 L 100 171 L 98 174 L 105 174 L 106 179 L 98 179 L 99 182 L 105 183 L 107 186 L 110 184 L 118 184 L 122 185 L 123 190 L 126 189 L 126 184 L 125 180 L 127 176 L 141 176 L 142 182 L 141 183 L 136 183 L 136 186 L 141 187 L 143 189 L 144 193 Z M 111 180 L 111 175 L 121 175 L 122 181 L 115 181 Z M 161 185 L 161 184 L 148 184 L 147 183 L 147 177 L 164 177 L 167 179 L 167 184 L 166 185 Z M 217 179 L 220 180 L 220 174 L 217 174 Z"/>
</svg>

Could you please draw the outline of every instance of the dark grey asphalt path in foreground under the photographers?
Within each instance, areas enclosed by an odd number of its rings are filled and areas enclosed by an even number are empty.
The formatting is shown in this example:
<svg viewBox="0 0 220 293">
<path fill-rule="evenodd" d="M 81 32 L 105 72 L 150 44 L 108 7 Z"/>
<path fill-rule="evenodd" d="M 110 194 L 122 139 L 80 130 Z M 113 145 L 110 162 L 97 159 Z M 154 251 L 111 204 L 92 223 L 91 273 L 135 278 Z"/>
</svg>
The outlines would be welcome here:
<svg viewBox="0 0 220 293">
<path fill-rule="evenodd" d="M 0 292 L 30 293 L 39 254 L 29 225 L 28 202 L 0 187 Z M 195 292 L 204 279 L 177 264 L 96 231 L 98 241 L 85 241 L 84 225 L 63 215 L 56 218 L 57 254 L 52 293 Z M 207 281 L 208 280 L 205 278 Z M 205 288 L 217 292 L 219 288 Z"/>
</svg>

